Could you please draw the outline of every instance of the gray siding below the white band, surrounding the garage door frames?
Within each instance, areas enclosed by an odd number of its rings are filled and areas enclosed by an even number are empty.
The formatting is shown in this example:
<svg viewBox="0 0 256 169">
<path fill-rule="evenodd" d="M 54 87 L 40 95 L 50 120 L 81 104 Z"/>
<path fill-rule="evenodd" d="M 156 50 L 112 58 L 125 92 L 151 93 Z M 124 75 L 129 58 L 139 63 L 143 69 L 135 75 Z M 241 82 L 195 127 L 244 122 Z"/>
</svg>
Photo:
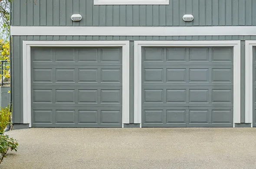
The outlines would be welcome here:
<svg viewBox="0 0 256 169">
<path fill-rule="evenodd" d="M 256 36 L 13 36 L 13 123 L 23 123 L 22 42 L 23 40 L 130 40 L 130 123 L 133 122 L 134 40 L 242 40 L 241 41 L 241 122 L 245 117 L 245 42 Z"/>
</svg>

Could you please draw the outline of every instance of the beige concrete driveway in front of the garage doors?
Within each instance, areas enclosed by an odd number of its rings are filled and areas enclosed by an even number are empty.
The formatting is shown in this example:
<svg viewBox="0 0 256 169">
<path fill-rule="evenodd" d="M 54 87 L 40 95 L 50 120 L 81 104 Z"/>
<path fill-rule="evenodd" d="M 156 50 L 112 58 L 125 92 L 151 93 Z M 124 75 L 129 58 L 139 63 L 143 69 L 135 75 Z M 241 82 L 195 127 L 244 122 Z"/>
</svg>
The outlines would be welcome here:
<svg viewBox="0 0 256 169">
<path fill-rule="evenodd" d="M 255 169 L 255 128 L 31 128 L 0 169 Z"/>
</svg>

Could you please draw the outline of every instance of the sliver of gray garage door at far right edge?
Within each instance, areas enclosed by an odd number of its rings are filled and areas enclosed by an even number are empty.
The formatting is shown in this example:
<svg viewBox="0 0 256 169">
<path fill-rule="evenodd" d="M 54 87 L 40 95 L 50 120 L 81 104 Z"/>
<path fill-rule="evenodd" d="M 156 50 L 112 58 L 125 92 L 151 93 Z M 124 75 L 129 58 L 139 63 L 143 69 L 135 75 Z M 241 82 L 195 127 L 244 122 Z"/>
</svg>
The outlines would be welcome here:
<svg viewBox="0 0 256 169">
<path fill-rule="evenodd" d="M 253 47 L 253 127 L 256 127 L 256 47 Z"/>
</svg>

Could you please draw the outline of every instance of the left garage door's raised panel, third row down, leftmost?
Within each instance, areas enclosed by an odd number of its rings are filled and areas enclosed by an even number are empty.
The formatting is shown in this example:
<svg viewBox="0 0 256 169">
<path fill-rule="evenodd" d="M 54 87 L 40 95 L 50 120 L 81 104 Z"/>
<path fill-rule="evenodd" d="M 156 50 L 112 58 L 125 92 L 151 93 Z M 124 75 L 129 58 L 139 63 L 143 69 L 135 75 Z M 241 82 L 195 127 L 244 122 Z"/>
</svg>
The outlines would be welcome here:
<svg viewBox="0 0 256 169">
<path fill-rule="evenodd" d="M 52 90 L 34 89 L 33 103 L 52 103 Z"/>
</svg>

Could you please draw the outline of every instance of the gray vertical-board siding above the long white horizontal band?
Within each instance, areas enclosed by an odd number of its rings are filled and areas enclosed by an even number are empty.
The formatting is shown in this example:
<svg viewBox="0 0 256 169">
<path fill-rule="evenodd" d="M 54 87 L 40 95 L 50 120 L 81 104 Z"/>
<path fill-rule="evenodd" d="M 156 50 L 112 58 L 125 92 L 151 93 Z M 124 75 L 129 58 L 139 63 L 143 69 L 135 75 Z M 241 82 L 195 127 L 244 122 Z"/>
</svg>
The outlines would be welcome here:
<svg viewBox="0 0 256 169">
<path fill-rule="evenodd" d="M 169 5 L 93 5 L 93 0 L 14 0 L 13 26 L 256 25 L 256 0 L 170 0 Z M 253 8 L 254 7 L 254 8 Z M 70 16 L 82 15 L 80 22 Z M 182 16 L 192 13 L 194 21 Z"/>
</svg>

